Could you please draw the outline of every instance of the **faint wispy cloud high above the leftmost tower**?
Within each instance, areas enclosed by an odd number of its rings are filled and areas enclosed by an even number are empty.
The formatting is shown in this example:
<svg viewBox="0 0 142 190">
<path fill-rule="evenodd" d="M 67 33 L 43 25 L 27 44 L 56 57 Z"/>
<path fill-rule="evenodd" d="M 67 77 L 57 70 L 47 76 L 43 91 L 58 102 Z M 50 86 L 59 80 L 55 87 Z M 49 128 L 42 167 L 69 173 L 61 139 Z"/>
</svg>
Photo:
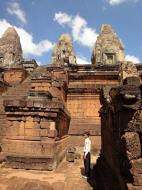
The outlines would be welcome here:
<svg viewBox="0 0 142 190">
<path fill-rule="evenodd" d="M 26 24 L 26 14 L 25 12 L 21 9 L 20 4 L 18 2 L 9 2 L 8 7 L 7 7 L 7 12 L 11 15 L 15 15 L 17 19 L 23 23 Z"/>
</svg>

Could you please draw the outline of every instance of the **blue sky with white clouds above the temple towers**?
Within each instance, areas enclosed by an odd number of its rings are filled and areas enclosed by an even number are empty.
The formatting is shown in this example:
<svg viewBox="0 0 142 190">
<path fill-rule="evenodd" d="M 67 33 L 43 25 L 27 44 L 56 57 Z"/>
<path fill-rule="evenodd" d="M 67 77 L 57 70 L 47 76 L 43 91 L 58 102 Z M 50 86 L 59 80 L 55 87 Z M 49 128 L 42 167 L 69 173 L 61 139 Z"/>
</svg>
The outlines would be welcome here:
<svg viewBox="0 0 142 190">
<path fill-rule="evenodd" d="M 127 60 L 142 62 L 142 0 L 0 0 L 0 37 L 8 26 L 20 35 L 25 58 L 51 61 L 62 33 L 72 36 L 78 63 L 90 63 L 101 24 L 111 24 Z"/>
</svg>

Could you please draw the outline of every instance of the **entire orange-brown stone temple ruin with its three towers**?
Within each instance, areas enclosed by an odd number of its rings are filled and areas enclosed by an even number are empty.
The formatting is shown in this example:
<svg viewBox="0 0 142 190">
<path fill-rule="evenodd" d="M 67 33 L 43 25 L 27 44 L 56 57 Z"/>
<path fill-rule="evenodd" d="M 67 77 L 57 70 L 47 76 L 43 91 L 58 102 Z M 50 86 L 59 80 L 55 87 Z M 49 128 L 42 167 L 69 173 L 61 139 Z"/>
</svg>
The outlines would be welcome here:
<svg viewBox="0 0 142 190">
<path fill-rule="evenodd" d="M 142 65 L 104 24 L 91 64 L 79 65 L 69 34 L 51 64 L 25 60 L 19 36 L 0 38 L 0 161 L 5 168 L 55 170 L 90 131 L 98 190 L 142 189 Z M 69 189 L 68 189 L 69 190 Z"/>
</svg>

